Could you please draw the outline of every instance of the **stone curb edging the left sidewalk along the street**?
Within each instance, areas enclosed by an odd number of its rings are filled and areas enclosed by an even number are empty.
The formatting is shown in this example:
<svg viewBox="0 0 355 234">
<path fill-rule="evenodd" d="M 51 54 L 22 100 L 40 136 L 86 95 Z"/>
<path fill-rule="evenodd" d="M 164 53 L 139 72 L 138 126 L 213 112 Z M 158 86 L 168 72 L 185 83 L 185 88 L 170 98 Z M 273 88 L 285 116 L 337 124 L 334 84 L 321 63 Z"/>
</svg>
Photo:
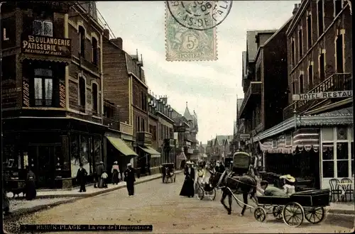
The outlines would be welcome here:
<svg viewBox="0 0 355 234">
<path fill-rule="evenodd" d="M 180 174 L 182 173 L 182 171 L 180 172 L 176 172 L 175 174 Z M 163 176 L 159 176 L 159 177 L 154 177 L 154 178 L 151 178 L 151 179 L 147 179 L 147 180 L 142 180 L 140 182 L 135 182 L 134 184 L 142 184 L 142 183 L 145 183 L 145 182 L 151 182 L 152 180 L 155 180 L 155 179 L 161 179 Z M 65 200 L 65 201 L 57 201 L 57 202 L 54 202 L 53 204 L 45 204 L 45 205 L 39 205 L 39 206 L 33 206 L 31 208 L 20 208 L 18 209 L 17 211 L 12 211 L 11 212 L 11 216 L 4 216 L 4 220 L 6 221 L 9 221 L 9 220 L 16 220 L 19 218 L 19 216 L 23 216 L 23 215 L 28 215 L 28 214 L 31 214 L 31 213 L 35 213 L 37 211 L 43 211 L 45 209 L 49 209 L 49 208 L 53 208 L 55 206 L 60 206 L 62 204 L 70 204 L 70 203 L 73 203 L 77 200 L 80 200 L 80 199 L 86 199 L 90 196 L 97 196 L 97 195 L 100 195 L 100 194 L 106 194 L 106 193 L 109 193 L 110 191 L 114 191 L 114 190 L 118 190 L 118 189 L 122 189 L 126 187 L 126 185 L 121 185 L 121 186 L 116 186 L 114 188 L 111 188 L 111 189 L 105 189 L 103 191 L 97 191 L 95 193 L 92 193 L 92 194 L 63 194 L 63 195 L 59 195 L 59 196 L 55 196 L 55 195 L 51 195 L 51 196 L 37 196 L 37 198 L 46 198 L 46 199 L 51 199 L 51 198 L 62 198 L 62 197 L 71 197 L 72 199 L 68 199 L 68 200 Z"/>
</svg>

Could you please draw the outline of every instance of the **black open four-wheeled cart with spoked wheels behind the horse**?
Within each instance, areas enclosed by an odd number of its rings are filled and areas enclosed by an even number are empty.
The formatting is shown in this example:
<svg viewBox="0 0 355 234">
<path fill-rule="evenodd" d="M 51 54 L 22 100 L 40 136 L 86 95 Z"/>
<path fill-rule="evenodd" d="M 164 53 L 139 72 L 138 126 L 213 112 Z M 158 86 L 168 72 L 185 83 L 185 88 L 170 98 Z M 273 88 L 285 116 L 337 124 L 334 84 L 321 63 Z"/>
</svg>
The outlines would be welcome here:
<svg viewBox="0 0 355 234">
<path fill-rule="evenodd" d="M 329 206 L 329 189 L 300 191 L 290 196 L 258 196 L 254 217 L 263 222 L 272 213 L 290 227 L 298 227 L 304 218 L 313 224 L 322 222 L 325 206 Z"/>
</svg>

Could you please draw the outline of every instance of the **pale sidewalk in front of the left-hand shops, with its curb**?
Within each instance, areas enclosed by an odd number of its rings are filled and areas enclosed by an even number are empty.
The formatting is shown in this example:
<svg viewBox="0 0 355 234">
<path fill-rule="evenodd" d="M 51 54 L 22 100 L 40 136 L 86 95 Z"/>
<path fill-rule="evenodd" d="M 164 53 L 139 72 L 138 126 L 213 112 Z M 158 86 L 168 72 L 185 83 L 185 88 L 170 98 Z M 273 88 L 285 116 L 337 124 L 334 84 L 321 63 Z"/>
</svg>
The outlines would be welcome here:
<svg viewBox="0 0 355 234">
<path fill-rule="evenodd" d="M 182 171 L 176 171 L 175 174 L 179 174 Z M 161 174 L 152 174 L 150 176 L 141 177 L 136 179 L 135 184 L 141 184 L 144 182 L 150 182 L 154 179 L 160 179 Z M 126 187 L 126 182 L 120 182 L 119 184 L 108 184 L 108 188 L 99 189 L 94 188 L 93 185 L 87 186 L 86 192 L 80 193 L 78 189 L 74 190 L 58 190 L 53 189 L 52 191 L 37 191 L 36 199 L 27 201 L 20 196 L 21 199 L 12 199 L 12 193 L 8 193 L 7 196 L 10 198 L 10 211 L 11 216 L 6 216 L 5 218 L 16 218 L 17 216 L 22 216 L 28 213 L 34 213 L 45 208 L 51 208 L 54 206 L 59 206 L 61 204 L 67 204 L 70 202 L 77 201 L 78 199 L 84 199 L 90 196 L 96 196 L 99 194 L 105 194 L 116 189 L 121 189 Z"/>
</svg>

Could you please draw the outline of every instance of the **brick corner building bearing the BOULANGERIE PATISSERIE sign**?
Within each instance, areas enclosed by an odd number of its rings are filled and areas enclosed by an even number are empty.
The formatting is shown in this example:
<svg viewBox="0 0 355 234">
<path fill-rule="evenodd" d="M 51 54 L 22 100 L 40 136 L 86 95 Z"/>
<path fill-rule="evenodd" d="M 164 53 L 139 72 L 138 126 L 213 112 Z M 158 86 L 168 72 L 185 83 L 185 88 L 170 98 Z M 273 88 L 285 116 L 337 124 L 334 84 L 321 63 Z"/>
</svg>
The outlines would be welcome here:
<svg viewBox="0 0 355 234">
<path fill-rule="evenodd" d="M 29 167 L 38 187 L 70 187 L 80 162 L 91 175 L 105 161 L 95 4 L 7 2 L 1 32 L 4 166 L 20 179 Z"/>
</svg>

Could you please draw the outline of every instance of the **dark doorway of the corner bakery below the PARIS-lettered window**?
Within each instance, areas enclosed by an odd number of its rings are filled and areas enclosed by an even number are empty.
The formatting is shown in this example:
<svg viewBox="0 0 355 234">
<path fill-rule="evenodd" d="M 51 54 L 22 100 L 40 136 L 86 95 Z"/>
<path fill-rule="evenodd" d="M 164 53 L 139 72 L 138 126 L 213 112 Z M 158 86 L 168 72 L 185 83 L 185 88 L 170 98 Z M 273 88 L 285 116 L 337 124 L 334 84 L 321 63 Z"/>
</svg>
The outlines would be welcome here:
<svg viewBox="0 0 355 234">
<path fill-rule="evenodd" d="M 54 187 L 56 150 L 54 145 L 38 146 L 37 173 L 35 173 L 38 188 Z"/>
</svg>

